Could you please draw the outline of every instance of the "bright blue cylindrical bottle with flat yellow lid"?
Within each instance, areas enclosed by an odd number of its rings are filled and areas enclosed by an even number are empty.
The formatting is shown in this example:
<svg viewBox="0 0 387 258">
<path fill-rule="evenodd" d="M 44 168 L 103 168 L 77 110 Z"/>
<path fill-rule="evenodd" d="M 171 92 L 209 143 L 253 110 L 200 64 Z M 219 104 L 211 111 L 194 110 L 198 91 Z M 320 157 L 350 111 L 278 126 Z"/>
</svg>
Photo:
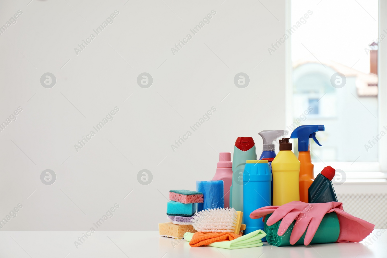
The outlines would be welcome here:
<svg viewBox="0 0 387 258">
<path fill-rule="evenodd" d="M 246 161 L 243 172 L 243 223 L 246 230 L 243 234 L 255 230 L 264 230 L 261 219 L 251 219 L 250 213 L 257 208 L 271 205 L 272 174 L 267 160 Z M 262 241 L 266 241 L 265 238 Z"/>
</svg>

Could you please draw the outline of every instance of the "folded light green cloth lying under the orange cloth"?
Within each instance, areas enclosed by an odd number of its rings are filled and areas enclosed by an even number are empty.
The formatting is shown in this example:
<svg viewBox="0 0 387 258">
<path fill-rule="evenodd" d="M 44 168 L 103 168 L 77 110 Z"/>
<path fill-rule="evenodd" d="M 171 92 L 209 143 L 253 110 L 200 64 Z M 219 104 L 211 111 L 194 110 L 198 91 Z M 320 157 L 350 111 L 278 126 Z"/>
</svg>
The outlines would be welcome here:
<svg viewBox="0 0 387 258">
<path fill-rule="evenodd" d="M 185 232 L 184 239 L 189 242 L 191 241 L 193 235 L 194 233 Z M 231 241 L 215 242 L 215 243 L 209 244 L 209 246 L 227 248 L 227 249 L 239 249 L 239 248 L 262 246 L 263 243 L 261 238 L 265 236 L 266 236 L 266 233 L 258 229 L 256 231 L 248 233 L 247 235 L 240 236 L 237 239 L 234 239 Z"/>
</svg>

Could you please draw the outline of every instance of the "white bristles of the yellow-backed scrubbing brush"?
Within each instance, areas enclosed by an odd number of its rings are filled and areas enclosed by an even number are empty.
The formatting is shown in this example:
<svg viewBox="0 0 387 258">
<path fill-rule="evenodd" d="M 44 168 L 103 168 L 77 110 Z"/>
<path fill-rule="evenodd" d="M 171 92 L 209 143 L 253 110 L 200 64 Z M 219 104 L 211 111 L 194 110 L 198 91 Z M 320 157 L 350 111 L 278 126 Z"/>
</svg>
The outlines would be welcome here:
<svg viewBox="0 0 387 258">
<path fill-rule="evenodd" d="M 191 222 L 199 232 L 234 232 L 237 217 L 234 208 L 217 208 L 195 213 Z"/>
</svg>

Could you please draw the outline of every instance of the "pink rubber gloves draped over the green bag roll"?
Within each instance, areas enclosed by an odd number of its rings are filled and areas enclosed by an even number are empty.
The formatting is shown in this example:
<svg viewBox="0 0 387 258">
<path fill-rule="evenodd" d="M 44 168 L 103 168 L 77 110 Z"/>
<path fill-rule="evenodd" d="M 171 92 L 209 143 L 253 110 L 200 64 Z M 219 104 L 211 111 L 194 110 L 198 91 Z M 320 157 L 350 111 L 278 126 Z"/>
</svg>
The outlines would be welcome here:
<svg viewBox="0 0 387 258">
<path fill-rule="evenodd" d="M 341 202 L 329 203 L 304 203 L 293 201 L 282 206 L 266 206 L 253 211 L 250 218 L 258 219 L 267 214 L 273 213 L 267 220 L 267 225 L 271 226 L 281 220 L 277 234 L 282 236 L 293 220 L 297 220 L 290 235 L 290 243 L 295 244 L 298 239 L 305 234 L 304 244 L 310 244 L 317 228 L 325 214 L 336 212 L 340 224 L 340 234 L 337 242 L 359 242 L 370 234 L 375 225 L 365 220 L 356 218 L 342 209 Z"/>
</svg>

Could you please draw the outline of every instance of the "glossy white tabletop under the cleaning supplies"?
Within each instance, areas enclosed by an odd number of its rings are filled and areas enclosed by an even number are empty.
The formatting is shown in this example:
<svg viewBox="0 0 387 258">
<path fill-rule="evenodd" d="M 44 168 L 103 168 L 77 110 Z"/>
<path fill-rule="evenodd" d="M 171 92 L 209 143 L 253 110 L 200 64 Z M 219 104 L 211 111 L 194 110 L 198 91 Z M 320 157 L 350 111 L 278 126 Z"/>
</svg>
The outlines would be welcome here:
<svg viewBox="0 0 387 258">
<path fill-rule="evenodd" d="M 96 231 L 87 239 L 85 238 L 86 241 L 76 248 L 74 241 L 77 241 L 82 233 L 85 232 L 0 231 L 0 257 L 387 257 L 387 231 L 380 230 L 371 233 L 370 236 L 374 236 L 374 241 L 370 245 L 366 245 L 363 241 L 362 243 L 275 247 L 264 242 L 264 245 L 260 247 L 235 250 L 211 246 L 190 247 L 184 239 L 160 237 L 158 231 Z"/>
</svg>

